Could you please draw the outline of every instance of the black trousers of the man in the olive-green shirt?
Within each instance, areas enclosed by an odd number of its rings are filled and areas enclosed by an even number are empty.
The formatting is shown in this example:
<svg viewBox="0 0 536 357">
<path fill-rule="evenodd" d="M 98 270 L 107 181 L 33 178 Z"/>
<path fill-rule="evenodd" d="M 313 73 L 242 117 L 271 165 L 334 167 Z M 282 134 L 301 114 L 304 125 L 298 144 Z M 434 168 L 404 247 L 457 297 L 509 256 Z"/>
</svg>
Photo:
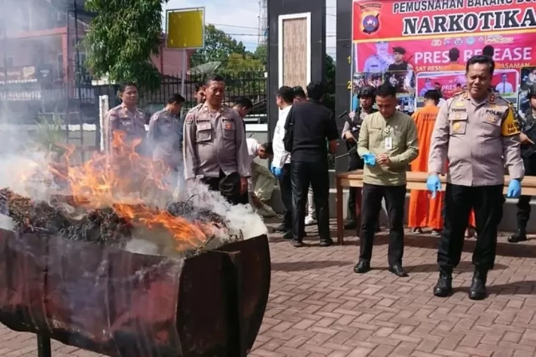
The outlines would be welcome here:
<svg viewBox="0 0 536 357">
<path fill-rule="evenodd" d="M 402 264 L 404 255 L 404 208 L 406 206 L 406 185 L 377 186 L 363 184 L 363 205 L 361 208 L 361 237 L 359 260 L 370 262 L 374 234 L 385 199 L 389 219 L 389 266 Z"/>
</svg>

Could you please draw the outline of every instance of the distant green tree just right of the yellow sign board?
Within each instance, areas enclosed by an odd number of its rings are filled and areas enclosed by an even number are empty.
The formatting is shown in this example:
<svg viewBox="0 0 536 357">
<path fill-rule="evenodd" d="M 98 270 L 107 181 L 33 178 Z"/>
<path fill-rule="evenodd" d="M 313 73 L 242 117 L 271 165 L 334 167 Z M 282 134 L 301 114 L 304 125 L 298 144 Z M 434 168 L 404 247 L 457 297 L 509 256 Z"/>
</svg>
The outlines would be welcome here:
<svg viewBox="0 0 536 357">
<path fill-rule="evenodd" d="M 224 69 L 229 63 L 231 54 L 246 54 L 244 44 L 217 29 L 214 25 L 205 25 L 205 47 L 197 49 L 192 55 L 190 63 L 194 67 L 202 63 L 220 61 L 220 68 Z"/>
</svg>

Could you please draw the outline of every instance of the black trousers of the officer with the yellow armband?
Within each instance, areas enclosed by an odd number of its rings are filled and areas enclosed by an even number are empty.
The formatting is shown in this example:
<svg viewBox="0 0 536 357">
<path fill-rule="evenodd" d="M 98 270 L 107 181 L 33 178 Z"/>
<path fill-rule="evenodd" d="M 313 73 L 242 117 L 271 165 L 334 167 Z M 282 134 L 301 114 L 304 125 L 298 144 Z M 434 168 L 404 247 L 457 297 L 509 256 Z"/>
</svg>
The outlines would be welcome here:
<svg viewBox="0 0 536 357">
<path fill-rule="evenodd" d="M 471 208 L 475 210 L 477 243 L 473 265 L 480 270 L 493 269 L 497 249 L 497 226 L 503 215 L 503 185 L 459 186 L 446 184 L 445 223 L 437 250 L 440 267 L 456 267 L 461 259 L 465 228 Z"/>
</svg>

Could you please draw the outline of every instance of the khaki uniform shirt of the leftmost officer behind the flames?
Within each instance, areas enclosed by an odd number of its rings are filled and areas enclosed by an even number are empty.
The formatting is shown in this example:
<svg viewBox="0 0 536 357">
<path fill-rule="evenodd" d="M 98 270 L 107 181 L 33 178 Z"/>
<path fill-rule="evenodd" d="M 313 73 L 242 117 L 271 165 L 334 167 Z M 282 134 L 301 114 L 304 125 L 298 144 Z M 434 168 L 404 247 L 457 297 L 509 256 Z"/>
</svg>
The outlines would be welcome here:
<svg viewBox="0 0 536 357">
<path fill-rule="evenodd" d="M 126 144 L 133 143 L 134 140 L 139 140 L 140 144 L 136 147 L 136 151 L 141 152 L 143 148 L 143 140 L 145 139 L 145 113 L 136 108 L 130 111 L 124 104 L 114 107 L 106 113 L 104 118 L 104 153 L 111 155 L 112 140 L 114 140 L 114 131 L 122 131 L 125 133 Z"/>
</svg>

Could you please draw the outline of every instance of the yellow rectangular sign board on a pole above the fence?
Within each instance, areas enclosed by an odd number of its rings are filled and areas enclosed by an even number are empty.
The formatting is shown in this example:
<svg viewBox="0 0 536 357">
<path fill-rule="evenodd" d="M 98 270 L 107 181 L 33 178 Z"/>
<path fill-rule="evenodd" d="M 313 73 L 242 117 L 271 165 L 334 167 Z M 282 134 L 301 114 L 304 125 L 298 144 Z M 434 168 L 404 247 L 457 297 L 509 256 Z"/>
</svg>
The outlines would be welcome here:
<svg viewBox="0 0 536 357">
<path fill-rule="evenodd" d="M 167 47 L 200 49 L 205 47 L 205 8 L 166 11 Z"/>
</svg>

